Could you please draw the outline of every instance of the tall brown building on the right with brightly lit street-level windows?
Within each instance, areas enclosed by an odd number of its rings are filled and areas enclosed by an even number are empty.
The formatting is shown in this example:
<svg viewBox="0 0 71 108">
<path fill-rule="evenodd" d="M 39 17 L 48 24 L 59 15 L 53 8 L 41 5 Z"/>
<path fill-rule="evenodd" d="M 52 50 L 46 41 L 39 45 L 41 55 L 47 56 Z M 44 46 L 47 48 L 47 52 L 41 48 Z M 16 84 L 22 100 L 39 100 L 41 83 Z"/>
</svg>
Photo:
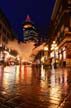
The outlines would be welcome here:
<svg viewBox="0 0 71 108">
<path fill-rule="evenodd" d="M 51 16 L 49 36 L 49 45 L 52 41 L 56 41 L 58 45 L 56 55 L 59 64 L 71 65 L 71 0 L 56 0 Z"/>
</svg>

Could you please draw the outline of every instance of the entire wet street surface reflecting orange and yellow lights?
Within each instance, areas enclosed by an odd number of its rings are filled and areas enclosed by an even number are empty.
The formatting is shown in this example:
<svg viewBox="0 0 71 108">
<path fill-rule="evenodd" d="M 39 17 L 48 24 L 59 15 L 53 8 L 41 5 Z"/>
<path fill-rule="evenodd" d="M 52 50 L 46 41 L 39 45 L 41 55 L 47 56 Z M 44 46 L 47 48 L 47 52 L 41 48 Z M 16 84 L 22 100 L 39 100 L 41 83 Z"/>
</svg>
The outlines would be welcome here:
<svg viewBox="0 0 71 108">
<path fill-rule="evenodd" d="M 70 68 L 0 66 L 0 108 L 70 108 L 69 94 Z"/>
</svg>

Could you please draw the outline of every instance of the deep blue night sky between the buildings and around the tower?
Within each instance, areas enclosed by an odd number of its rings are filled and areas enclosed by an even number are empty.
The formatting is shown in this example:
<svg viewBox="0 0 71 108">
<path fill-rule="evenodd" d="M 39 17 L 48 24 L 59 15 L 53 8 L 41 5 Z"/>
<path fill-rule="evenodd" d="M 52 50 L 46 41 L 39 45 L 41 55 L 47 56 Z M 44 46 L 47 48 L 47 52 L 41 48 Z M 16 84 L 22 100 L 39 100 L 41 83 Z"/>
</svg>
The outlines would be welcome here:
<svg viewBox="0 0 71 108">
<path fill-rule="evenodd" d="M 0 0 L 0 8 L 8 18 L 19 40 L 23 36 L 23 23 L 29 15 L 40 35 L 47 35 L 55 0 Z"/>
</svg>

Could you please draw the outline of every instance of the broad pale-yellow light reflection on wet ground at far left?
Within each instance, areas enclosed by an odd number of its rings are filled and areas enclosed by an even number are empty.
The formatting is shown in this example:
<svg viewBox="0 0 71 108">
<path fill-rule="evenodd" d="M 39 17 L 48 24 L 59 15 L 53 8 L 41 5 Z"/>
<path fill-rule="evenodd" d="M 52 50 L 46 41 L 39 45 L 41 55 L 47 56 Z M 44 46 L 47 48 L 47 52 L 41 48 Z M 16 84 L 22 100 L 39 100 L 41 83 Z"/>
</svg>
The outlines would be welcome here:
<svg viewBox="0 0 71 108">
<path fill-rule="evenodd" d="M 3 87 L 8 90 L 14 90 L 15 86 L 15 66 L 9 66 L 4 69 Z"/>
</svg>

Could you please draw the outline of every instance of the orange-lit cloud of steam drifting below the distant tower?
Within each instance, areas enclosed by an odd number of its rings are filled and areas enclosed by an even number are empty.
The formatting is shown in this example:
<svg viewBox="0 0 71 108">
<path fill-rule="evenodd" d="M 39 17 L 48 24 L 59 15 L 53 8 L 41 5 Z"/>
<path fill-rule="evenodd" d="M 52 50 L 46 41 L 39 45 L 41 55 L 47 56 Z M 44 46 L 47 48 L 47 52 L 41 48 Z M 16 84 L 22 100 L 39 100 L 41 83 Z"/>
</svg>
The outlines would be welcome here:
<svg viewBox="0 0 71 108">
<path fill-rule="evenodd" d="M 15 41 L 9 41 L 6 45 L 9 49 L 15 49 L 18 52 L 19 59 L 23 62 L 33 61 L 35 56 L 39 53 L 39 51 L 43 50 L 45 43 L 41 44 L 38 47 L 35 47 L 35 42 L 27 42 L 27 43 L 18 43 Z M 28 53 L 27 53 L 28 52 Z"/>
</svg>

